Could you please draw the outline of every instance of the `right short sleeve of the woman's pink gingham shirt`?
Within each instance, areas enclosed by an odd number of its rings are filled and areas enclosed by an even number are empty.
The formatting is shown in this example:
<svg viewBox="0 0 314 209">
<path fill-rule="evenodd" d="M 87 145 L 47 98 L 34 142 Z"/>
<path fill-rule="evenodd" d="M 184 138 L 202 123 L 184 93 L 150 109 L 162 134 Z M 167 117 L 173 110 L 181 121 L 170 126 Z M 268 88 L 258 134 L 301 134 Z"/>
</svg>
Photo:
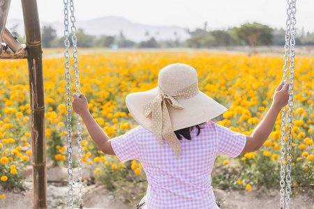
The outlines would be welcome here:
<svg viewBox="0 0 314 209">
<path fill-rule="evenodd" d="M 216 124 L 219 147 L 218 155 L 237 157 L 246 145 L 246 136 Z"/>
</svg>

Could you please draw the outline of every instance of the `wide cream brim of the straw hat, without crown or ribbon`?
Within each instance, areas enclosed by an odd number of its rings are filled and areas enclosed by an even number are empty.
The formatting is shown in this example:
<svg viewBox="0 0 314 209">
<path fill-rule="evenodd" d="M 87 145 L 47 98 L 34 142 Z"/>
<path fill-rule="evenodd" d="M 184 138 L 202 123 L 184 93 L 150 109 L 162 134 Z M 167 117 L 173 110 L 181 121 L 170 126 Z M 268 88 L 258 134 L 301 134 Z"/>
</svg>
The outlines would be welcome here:
<svg viewBox="0 0 314 209">
<path fill-rule="evenodd" d="M 126 96 L 126 106 L 135 121 L 152 132 L 151 115 L 145 117 L 144 105 L 152 102 L 158 95 L 158 87 L 149 91 L 130 93 Z M 184 109 L 175 109 L 167 104 L 173 130 L 198 125 L 220 116 L 227 108 L 219 104 L 206 94 L 199 91 L 197 95 L 188 99 L 177 99 Z"/>
</svg>

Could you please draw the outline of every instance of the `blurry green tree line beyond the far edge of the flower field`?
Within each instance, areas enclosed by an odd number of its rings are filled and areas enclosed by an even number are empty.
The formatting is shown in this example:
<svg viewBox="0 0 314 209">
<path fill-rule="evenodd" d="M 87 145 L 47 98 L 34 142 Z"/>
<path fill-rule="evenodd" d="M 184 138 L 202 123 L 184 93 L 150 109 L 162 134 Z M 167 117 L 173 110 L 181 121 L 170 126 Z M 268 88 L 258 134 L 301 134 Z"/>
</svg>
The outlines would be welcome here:
<svg viewBox="0 0 314 209">
<path fill-rule="evenodd" d="M 187 40 L 180 40 L 174 32 L 174 40 L 156 40 L 155 35 L 149 36 L 145 33 L 147 40 L 134 42 L 124 36 L 123 31 L 118 36 L 92 36 L 77 29 L 77 47 L 115 47 L 115 48 L 167 48 L 167 47 L 231 47 L 248 46 L 249 53 L 255 52 L 256 46 L 261 45 L 285 45 L 285 29 L 272 29 L 271 27 L 257 22 L 242 24 L 226 30 L 207 30 L 207 23 L 202 29 L 194 31 L 186 29 L 190 34 Z M 22 39 L 13 29 L 13 33 Z M 64 37 L 58 37 L 52 26 L 42 27 L 43 47 L 64 47 Z M 304 29 L 297 31 L 295 38 L 296 45 L 314 45 L 314 33 L 304 32 Z"/>
</svg>

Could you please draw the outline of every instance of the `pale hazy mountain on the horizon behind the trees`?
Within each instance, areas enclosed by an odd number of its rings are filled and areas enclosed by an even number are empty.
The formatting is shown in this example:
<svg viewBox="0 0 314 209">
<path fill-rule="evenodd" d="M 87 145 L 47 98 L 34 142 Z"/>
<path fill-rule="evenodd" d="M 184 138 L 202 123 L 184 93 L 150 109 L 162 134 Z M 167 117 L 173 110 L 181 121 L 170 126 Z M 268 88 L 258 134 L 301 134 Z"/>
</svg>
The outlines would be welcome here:
<svg viewBox="0 0 314 209">
<path fill-rule="evenodd" d="M 70 23 L 71 24 L 71 23 Z M 6 27 L 10 30 L 17 25 L 17 33 L 24 33 L 23 20 L 8 20 Z M 63 22 L 46 23 L 40 22 L 40 26 L 52 26 L 59 37 L 63 36 Z M 120 32 L 130 40 L 140 42 L 154 37 L 156 40 L 186 40 L 190 38 L 188 32 L 179 26 L 151 26 L 138 24 L 126 20 L 124 17 L 99 17 L 94 20 L 76 21 L 77 29 L 83 29 L 84 33 L 94 36 L 119 36 Z M 70 27 L 69 27 L 70 29 Z"/>
</svg>

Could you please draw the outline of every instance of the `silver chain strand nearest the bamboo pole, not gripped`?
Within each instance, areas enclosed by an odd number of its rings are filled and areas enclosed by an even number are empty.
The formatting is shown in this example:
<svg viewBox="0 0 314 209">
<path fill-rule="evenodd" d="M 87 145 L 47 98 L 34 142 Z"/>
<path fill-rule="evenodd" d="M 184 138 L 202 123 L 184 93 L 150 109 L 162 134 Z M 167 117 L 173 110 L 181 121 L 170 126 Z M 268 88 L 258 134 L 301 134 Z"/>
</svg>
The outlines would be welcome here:
<svg viewBox="0 0 314 209">
<path fill-rule="evenodd" d="M 71 125 L 71 114 L 70 111 L 72 110 L 72 106 L 70 104 L 71 101 L 71 94 L 70 94 L 70 89 L 71 89 L 71 84 L 70 84 L 70 52 L 68 51 L 70 47 L 70 41 L 69 41 L 69 31 L 68 31 L 68 0 L 63 0 L 64 3 L 64 36 L 66 37 L 66 40 L 64 40 L 64 45 L 66 46 L 66 52 L 64 52 L 64 56 L 66 58 L 66 110 L 68 111 L 68 114 L 66 115 L 66 119 L 68 121 L 68 125 L 66 125 L 66 129 L 68 131 L 68 135 L 66 137 L 66 140 L 68 141 L 68 208 L 73 209 L 73 169 L 72 169 L 72 125 Z"/>
</svg>

